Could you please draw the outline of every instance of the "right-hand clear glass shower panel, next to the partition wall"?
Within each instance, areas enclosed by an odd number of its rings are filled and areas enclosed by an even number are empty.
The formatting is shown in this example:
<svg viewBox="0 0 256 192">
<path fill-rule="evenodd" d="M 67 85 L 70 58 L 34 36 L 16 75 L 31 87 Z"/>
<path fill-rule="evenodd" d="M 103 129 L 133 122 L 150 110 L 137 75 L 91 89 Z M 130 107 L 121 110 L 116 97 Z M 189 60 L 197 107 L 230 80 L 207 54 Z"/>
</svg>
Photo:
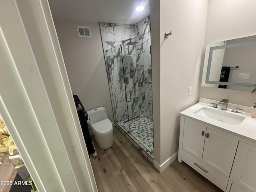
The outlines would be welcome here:
<svg viewBox="0 0 256 192">
<path fill-rule="evenodd" d="M 150 32 L 122 44 L 130 133 L 154 153 Z"/>
</svg>

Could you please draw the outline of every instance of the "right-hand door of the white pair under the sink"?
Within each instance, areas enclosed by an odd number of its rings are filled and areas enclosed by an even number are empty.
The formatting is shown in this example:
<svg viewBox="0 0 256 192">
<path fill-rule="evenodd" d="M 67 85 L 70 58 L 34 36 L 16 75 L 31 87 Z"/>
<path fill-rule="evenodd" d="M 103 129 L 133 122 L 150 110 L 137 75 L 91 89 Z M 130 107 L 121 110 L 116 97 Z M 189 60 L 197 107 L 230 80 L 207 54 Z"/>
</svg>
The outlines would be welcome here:
<svg viewBox="0 0 256 192">
<path fill-rule="evenodd" d="M 207 128 L 203 161 L 229 177 L 237 146 L 237 139 Z"/>
</svg>

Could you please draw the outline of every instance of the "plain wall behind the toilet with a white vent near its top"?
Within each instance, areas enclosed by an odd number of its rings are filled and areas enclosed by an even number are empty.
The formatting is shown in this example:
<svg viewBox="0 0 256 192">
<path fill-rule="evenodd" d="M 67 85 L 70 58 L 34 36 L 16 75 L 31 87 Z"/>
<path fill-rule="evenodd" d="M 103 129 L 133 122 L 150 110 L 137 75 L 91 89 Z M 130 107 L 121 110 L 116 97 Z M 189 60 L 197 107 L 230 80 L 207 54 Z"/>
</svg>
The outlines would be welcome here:
<svg viewBox="0 0 256 192">
<path fill-rule="evenodd" d="M 54 21 L 72 92 L 84 108 L 103 106 L 114 121 L 98 23 Z M 76 26 L 89 26 L 92 38 L 78 38 Z"/>
</svg>

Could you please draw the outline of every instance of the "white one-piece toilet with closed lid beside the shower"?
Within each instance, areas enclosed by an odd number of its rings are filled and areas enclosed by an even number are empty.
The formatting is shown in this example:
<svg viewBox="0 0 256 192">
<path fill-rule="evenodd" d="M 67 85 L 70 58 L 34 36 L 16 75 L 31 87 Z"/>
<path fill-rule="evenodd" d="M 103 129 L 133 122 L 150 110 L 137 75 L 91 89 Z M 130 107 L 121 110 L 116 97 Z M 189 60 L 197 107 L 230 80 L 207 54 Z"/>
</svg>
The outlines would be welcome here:
<svg viewBox="0 0 256 192">
<path fill-rule="evenodd" d="M 107 117 L 106 109 L 99 107 L 87 113 L 91 118 L 92 132 L 98 145 L 102 149 L 110 148 L 113 145 L 113 126 Z"/>
</svg>

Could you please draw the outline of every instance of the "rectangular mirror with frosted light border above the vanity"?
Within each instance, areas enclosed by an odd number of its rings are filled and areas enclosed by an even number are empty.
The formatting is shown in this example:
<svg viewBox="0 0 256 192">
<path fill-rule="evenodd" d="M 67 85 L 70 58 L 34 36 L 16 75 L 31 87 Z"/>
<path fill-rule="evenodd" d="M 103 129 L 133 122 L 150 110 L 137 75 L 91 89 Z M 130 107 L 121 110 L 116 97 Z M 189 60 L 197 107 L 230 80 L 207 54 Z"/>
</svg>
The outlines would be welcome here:
<svg viewBox="0 0 256 192">
<path fill-rule="evenodd" d="M 202 86 L 251 90 L 256 84 L 256 35 L 206 45 Z"/>
</svg>

